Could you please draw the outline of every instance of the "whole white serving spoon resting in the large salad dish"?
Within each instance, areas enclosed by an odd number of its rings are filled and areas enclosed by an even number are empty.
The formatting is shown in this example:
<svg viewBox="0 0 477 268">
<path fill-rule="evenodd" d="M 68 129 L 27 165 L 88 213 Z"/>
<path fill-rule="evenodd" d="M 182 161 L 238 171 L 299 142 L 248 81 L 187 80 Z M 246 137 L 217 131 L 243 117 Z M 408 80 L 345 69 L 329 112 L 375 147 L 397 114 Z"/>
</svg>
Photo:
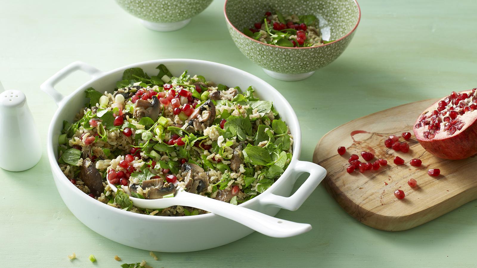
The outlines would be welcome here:
<svg viewBox="0 0 477 268">
<path fill-rule="evenodd" d="M 106 181 L 115 193 L 117 187 L 110 184 L 109 180 Z M 178 182 L 176 181 L 176 193 L 174 197 L 141 199 L 129 196 L 129 198 L 133 201 L 134 206 L 141 208 L 157 209 L 169 206 L 192 206 L 200 208 L 236 221 L 269 237 L 293 237 L 311 230 L 311 225 L 309 224 L 282 220 L 243 206 L 236 206 L 207 196 L 188 193 L 177 184 Z"/>
</svg>

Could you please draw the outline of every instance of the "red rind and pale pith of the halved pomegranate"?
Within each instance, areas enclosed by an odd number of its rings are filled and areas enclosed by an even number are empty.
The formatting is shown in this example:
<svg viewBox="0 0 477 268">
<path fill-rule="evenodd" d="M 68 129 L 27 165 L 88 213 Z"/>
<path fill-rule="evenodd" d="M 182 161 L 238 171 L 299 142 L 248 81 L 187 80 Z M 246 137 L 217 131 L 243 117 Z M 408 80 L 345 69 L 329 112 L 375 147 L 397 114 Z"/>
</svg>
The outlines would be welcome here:
<svg viewBox="0 0 477 268">
<path fill-rule="evenodd" d="M 459 92 L 469 93 L 471 91 L 466 90 Z M 477 110 L 467 112 L 464 115 L 459 115 L 461 120 L 465 121 L 465 125 L 461 130 L 457 130 L 455 134 L 446 135 L 445 137 L 435 137 L 434 139 L 427 139 L 424 137 L 423 132 L 425 126 L 416 128 L 416 124 L 420 122 L 422 114 L 429 111 L 434 111 L 438 107 L 438 103 L 445 100 L 448 96 L 438 100 L 436 103 L 429 106 L 422 113 L 419 114 L 416 122 L 413 126 L 414 135 L 419 141 L 419 144 L 429 153 L 439 158 L 459 160 L 465 159 L 477 154 Z"/>
</svg>

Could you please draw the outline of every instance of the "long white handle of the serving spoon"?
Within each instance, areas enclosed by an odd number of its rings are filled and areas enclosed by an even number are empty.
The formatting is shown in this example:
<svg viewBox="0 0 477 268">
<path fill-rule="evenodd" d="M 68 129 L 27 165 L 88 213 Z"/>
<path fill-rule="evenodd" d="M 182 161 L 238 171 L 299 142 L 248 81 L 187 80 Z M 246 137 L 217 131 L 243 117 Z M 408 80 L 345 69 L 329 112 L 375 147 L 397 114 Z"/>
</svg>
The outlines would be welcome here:
<svg viewBox="0 0 477 268">
<path fill-rule="evenodd" d="M 232 205 L 206 196 L 187 194 L 187 197 L 184 196 L 184 198 L 180 199 L 182 199 L 180 203 L 183 206 L 193 206 L 210 211 L 269 237 L 292 237 L 311 230 L 311 225 L 309 224 L 279 219 L 246 207 Z"/>
</svg>

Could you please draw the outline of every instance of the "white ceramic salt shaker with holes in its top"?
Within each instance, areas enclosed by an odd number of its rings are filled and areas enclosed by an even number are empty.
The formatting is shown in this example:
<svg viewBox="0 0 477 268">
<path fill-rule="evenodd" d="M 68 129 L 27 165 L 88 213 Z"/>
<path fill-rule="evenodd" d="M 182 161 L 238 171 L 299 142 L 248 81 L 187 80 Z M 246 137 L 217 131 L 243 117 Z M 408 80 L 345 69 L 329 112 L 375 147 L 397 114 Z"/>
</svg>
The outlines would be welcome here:
<svg viewBox="0 0 477 268">
<path fill-rule="evenodd" d="M 0 167 L 27 170 L 40 161 L 40 135 L 25 94 L 4 90 L 0 82 Z"/>
</svg>

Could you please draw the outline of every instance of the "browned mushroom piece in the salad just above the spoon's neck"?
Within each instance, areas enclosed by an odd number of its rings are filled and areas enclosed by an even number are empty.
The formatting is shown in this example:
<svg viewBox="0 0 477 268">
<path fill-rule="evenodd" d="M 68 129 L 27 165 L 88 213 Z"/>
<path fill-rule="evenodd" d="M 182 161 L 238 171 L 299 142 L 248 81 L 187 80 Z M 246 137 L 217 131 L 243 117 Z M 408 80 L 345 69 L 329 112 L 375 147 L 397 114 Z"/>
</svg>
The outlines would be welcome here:
<svg viewBox="0 0 477 268">
<path fill-rule="evenodd" d="M 186 162 L 182 164 L 181 171 L 187 192 L 200 194 L 207 190 L 208 176 L 202 167 Z"/>
</svg>

